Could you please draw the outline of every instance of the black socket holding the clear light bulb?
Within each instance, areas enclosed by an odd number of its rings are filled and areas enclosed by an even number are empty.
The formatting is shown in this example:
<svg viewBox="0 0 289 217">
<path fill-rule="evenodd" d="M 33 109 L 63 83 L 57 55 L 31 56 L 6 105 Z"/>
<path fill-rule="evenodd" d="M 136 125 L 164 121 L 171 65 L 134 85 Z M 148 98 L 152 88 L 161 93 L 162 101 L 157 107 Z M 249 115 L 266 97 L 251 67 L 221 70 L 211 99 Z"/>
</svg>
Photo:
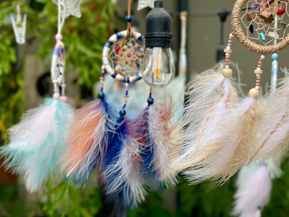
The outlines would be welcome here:
<svg viewBox="0 0 289 217">
<path fill-rule="evenodd" d="M 171 47 L 171 16 L 162 8 L 162 1 L 154 2 L 154 8 L 146 19 L 145 47 Z"/>
</svg>

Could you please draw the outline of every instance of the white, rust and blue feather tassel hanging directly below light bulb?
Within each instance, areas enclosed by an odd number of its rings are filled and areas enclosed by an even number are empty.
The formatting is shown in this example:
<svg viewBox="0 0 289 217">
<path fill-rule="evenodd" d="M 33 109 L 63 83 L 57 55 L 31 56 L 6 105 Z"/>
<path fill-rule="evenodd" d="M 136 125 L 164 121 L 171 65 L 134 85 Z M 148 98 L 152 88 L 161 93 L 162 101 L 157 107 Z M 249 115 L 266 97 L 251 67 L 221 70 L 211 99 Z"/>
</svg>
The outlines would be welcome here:
<svg viewBox="0 0 289 217">
<path fill-rule="evenodd" d="M 170 139 L 174 130 L 171 123 L 173 108 L 173 101 L 169 98 L 157 105 L 150 104 L 140 117 L 144 135 L 142 172 L 149 185 L 156 184 L 160 187 L 165 184 L 173 187 L 177 183 L 177 178 L 169 168 L 169 156 L 173 149 Z"/>
</svg>

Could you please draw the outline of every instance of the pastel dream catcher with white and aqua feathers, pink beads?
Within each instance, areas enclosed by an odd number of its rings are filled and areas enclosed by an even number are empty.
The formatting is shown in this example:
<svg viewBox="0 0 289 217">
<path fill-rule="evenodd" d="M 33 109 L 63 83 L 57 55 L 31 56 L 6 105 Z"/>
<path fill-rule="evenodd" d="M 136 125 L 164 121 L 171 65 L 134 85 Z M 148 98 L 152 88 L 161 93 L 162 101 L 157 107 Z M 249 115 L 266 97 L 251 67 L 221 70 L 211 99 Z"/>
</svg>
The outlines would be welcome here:
<svg viewBox="0 0 289 217">
<path fill-rule="evenodd" d="M 59 6 L 59 14 L 60 14 Z M 64 18 L 58 16 L 57 44 L 51 64 L 51 78 L 54 85 L 53 98 L 48 98 L 38 108 L 27 111 L 19 124 L 8 130 L 9 144 L 1 147 L 8 170 L 24 177 L 27 189 L 37 190 L 47 176 L 58 172 L 57 162 L 63 155 L 62 143 L 73 117 L 64 95 L 64 45 L 60 41 Z M 60 94 L 61 89 L 61 94 Z"/>
</svg>

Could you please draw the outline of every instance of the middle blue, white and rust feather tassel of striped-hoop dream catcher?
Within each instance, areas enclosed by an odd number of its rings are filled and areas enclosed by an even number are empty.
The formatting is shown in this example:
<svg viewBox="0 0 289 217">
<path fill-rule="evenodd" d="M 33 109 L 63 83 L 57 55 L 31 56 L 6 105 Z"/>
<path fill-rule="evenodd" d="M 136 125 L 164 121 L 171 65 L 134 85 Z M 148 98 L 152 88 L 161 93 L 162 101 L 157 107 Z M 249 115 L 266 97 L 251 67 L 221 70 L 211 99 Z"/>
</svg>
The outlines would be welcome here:
<svg viewBox="0 0 289 217">
<path fill-rule="evenodd" d="M 141 127 L 138 121 L 120 117 L 101 166 L 106 193 L 133 207 L 147 194 L 141 174 Z"/>
</svg>

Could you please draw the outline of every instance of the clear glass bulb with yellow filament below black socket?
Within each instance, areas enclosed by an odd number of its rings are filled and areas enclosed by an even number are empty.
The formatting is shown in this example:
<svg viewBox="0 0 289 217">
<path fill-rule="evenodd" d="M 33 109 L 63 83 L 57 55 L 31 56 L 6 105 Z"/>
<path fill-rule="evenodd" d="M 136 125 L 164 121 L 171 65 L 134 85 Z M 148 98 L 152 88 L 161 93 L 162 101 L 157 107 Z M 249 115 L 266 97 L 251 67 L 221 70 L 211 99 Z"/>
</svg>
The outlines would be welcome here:
<svg viewBox="0 0 289 217">
<path fill-rule="evenodd" d="M 171 48 L 146 47 L 141 72 L 142 78 L 151 87 L 168 85 L 175 76 Z"/>
</svg>

